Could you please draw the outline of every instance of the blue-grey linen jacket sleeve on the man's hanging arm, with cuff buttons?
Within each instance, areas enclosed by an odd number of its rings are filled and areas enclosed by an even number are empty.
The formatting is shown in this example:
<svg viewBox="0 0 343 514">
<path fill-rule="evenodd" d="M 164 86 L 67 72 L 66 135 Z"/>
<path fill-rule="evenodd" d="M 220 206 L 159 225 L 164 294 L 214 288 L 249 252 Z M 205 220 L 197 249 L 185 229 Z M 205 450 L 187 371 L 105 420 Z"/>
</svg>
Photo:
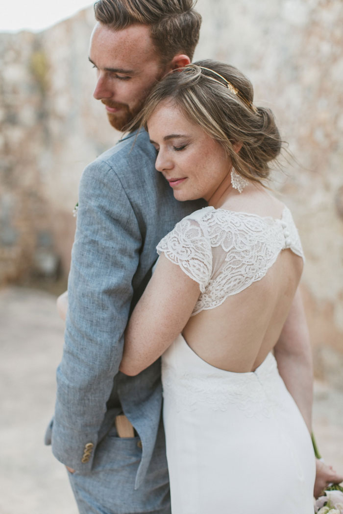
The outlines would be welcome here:
<svg viewBox="0 0 343 514">
<path fill-rule="evenodd" d="M 83 172 L 68 280 L 68 313 L 52 451 L 82 474 L 91 471 L 106 401 L 118 373 L 141 235 L 114 170 L 95 161 Z"/>
</svg>

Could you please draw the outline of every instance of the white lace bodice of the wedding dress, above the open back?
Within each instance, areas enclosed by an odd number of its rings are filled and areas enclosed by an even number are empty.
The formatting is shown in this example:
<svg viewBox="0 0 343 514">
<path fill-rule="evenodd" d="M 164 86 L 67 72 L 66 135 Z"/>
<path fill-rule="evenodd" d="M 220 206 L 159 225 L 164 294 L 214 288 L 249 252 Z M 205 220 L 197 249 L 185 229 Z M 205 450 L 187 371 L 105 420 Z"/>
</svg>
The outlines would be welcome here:
<svg viewBox="0 0 343 514">
<path fill-rule="evenodd" d="M 200 285 L 192 316 L 261 280 L 286 248 L 304 258 L 287 207 L 281 218 L 205 207 L 183 218 L 157 245 L 159 254 Z"/>
</svg>

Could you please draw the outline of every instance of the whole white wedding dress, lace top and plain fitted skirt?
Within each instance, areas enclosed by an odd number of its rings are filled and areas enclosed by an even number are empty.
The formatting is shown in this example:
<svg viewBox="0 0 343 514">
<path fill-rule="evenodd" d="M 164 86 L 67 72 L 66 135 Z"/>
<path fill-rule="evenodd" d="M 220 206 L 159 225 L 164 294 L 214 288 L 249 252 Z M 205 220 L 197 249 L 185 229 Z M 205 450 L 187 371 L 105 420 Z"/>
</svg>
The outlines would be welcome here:
<svg viewBox="0 0 343 514">
<path fill-rule="evenodd" d="M 206 207 L 157 246 L 200 284 L 193 315 L 262 279 L 285 248 L 303 256 L 287 208 L 273 219 Z M 272 354 L 232 373 L 179 335 L 162 381 L 172 514 L 313 514 L 311 437 Z"/>
</svg>

